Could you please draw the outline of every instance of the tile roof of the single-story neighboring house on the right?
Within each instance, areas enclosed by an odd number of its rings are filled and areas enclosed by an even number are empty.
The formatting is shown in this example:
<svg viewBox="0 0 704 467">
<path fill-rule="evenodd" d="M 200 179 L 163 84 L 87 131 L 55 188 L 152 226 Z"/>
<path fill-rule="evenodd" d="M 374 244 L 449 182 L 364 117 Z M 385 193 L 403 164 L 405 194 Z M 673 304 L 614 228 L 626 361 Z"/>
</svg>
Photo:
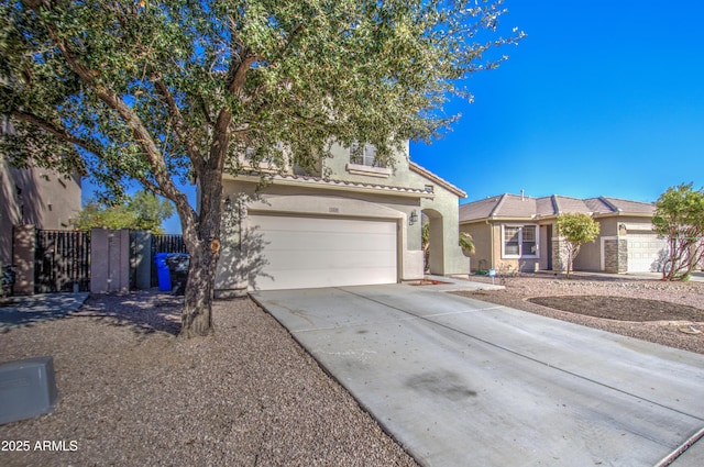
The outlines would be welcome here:
<svg viewBox="0 0 704 467">
<path fill-rule="evenodd" d="M 563 212 L 584 212 L 588 214 L 646 214 L 654 212 L 654 204 L 618 198 L 576 199 L 552 194 L 530 198 L 504 193 L 460 205 L 460 222 L 486 218 L 535 219 L 558 215 Z"/>
</svg>

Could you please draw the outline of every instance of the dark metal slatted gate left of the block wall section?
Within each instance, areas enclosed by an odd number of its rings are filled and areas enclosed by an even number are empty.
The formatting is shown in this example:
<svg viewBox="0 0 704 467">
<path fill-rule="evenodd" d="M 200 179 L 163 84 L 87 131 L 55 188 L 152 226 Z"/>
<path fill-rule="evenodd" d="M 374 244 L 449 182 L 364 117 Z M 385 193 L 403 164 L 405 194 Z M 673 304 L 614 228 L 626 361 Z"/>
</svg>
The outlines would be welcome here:
<svg viewBox="0 0 704 467">
<path fill-rule="evenodd" d="M 90 290 L 90 233 L 36 231 L 34 293 Z"/>
</svg>

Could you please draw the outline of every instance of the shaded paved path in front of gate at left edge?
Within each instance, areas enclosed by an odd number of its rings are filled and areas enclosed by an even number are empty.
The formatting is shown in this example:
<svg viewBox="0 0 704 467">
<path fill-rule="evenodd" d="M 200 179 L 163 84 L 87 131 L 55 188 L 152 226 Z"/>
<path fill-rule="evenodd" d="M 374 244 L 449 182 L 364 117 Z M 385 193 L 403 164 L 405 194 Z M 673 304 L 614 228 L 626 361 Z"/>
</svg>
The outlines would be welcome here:
<svg viewBox="0 0 704 467">
<path fill-rule="evenodd" d="M 0 332 L 63 318 L 82 307 L 88 294 L 78 292 L 8 297 L 0 301 Z"/>
</svg>

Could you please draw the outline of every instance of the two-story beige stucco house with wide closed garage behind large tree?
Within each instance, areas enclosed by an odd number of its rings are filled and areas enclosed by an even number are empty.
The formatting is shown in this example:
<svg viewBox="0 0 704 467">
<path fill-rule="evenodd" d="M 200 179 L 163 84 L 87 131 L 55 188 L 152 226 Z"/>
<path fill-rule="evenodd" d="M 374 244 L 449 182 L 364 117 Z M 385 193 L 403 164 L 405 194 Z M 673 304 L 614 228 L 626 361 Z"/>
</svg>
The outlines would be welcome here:
<svg viewBox="0 0 704 467">
<path fill-rule="evenodd" d="M 430 273 L 469 271 L 458 245 L 462 190 L 410 162 L 407 144 L 393 169 L 375 164 L 371 145 L 362 156 L 339 145 L 332 153 L 315 174 L 289 168 L 263 188 L 256 174 L 226 176 L 219 297 L 420 279 L 421 213 Z"/>
</svg>

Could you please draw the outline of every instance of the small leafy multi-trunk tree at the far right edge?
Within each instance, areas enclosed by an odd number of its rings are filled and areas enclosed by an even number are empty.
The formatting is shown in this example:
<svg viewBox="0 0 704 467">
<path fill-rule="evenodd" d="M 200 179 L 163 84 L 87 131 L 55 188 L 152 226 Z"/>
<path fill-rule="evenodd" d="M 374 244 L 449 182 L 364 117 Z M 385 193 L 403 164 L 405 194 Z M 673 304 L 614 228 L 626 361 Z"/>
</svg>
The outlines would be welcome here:
<svg viewBox="0 0 704 467">
<path fill-rule="evenodd" d="M 668 188 L 656 202 L 652 225 L 668 243 L 662 279 L 686 280 L 704 258 L 704 188 Z"/>
</svg>

